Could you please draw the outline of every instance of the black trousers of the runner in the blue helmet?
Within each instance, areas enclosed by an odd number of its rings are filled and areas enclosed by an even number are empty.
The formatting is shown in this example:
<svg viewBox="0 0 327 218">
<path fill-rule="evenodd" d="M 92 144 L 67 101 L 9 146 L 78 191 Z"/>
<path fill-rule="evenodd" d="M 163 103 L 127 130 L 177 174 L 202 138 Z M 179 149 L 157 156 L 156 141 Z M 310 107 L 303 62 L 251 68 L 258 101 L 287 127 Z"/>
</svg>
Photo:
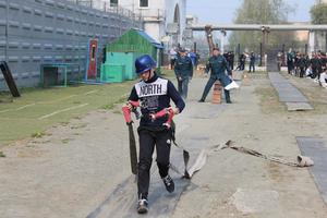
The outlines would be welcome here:
<svg viewBox="0 0 327 218">
<path fill-rule="evenodd" d="M 142 197 L 147 197 L 155 147 L 157 150 L 159 174 L 161 178 L 165 178 L 168 174 L 171 131 L 167 130 L 166 126 L 160 126 L 158 129 L 140 126 L 137 132 L 140 138 L 137 194 L 138 197 L 140 195 L 142 195 Z"/>
</svg>

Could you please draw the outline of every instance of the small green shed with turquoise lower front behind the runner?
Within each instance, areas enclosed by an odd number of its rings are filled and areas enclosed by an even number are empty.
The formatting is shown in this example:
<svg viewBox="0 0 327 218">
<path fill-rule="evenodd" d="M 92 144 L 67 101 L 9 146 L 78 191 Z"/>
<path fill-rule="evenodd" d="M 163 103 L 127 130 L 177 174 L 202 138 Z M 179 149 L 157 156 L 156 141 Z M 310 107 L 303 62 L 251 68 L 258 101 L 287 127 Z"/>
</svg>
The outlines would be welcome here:
<svg viewBox="0 0 327 218">
<path fill-rule="evenodd" d="M 135 78 L 135 59 L 144 53 L 159 60 L 164 47 L 142 29 L 132 28 L 106 46 L 106 62 L 101 65 L 102 82 Z M 160 63 L 158 64 L 160 65 Z"/>
</svg>

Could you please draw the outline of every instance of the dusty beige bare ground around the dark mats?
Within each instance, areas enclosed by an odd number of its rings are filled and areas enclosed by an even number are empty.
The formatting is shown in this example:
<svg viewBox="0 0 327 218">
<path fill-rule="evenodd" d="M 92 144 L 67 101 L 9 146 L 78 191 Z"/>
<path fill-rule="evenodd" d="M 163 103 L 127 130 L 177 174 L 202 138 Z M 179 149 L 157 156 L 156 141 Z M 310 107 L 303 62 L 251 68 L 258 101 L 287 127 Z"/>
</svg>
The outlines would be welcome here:
<svg viewBox="0 0 327 218">
<path fill-rule="evenodd" d="M 198 150 L 232 140 L 290 160 L 300 154 L 296 136 L 319 137 L 326 145 L 326 90 L 306 78 L 287 78 L 314 110 L 287 111 L 267 74 L 246 76 L 231 94 L 232 105 L 211 105 L 210 96 L 198 104 L 207 78 L 194 78 L 187 107 L 177 117 L 178 141 Z M 3 148 L 1 218 L 86 217 L 130 177 L 128 132 L 117 110 L 94 111 L 47 133 Z M 308 169 L 225 149 L 209 154 L 169 217 L 325 218 L 327 207 Z"/>
</svg>

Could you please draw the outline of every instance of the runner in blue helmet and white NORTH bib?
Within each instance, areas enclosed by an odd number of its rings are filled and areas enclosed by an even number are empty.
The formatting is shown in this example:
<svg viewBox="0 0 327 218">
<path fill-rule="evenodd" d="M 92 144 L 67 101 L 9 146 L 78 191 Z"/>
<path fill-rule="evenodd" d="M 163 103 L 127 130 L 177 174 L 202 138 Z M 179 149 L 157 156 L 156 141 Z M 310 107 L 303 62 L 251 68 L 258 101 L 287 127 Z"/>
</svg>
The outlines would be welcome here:
<svg viewBox="0 0 327 218">
<path fill-rule="evenodd" d="M 145 214 L 148 211 L 147 195 L 155 147 L 157 152 L 157 166 L 164 184 L 169 193 L 174 191 L 174 183 L 168 173 L 172 136 L 171 129 L 165 125 L 167 117 L 154 120 L 152 114 L 168 108 L 174 114 L 178 114 L 182 112 L 185 104 L 173 84 L 156 74 L 156 62 L 150 56 L 144 55 L 138 57 L 135 60 L 135 68 L 141 81 L 132 88 L 129 100 L 140 101 L 141 105 L 142 119 L 137 129 L 140 141 L 137 213 Z M 170 106 L 171 99 L 175 107 Z M 132 109 L 131 104 L 129 104 L 129 107 Z"/>
</svg>

